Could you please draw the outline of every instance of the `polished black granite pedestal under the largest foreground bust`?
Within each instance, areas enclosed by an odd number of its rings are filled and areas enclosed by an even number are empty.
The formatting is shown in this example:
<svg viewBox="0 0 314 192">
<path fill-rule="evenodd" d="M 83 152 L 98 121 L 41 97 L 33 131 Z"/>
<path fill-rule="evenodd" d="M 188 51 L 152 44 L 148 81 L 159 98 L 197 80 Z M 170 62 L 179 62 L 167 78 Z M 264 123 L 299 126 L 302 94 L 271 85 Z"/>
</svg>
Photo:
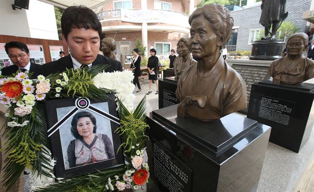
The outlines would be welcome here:
<svg viewBox="0 0 314 192">
<path fill-rule="evenodd" d="M 147 118 L 161 192 L 255 192 L 270 127 L 238 113 L 214 122 L 178 117 L 177 107 Z"/>
</svg>

